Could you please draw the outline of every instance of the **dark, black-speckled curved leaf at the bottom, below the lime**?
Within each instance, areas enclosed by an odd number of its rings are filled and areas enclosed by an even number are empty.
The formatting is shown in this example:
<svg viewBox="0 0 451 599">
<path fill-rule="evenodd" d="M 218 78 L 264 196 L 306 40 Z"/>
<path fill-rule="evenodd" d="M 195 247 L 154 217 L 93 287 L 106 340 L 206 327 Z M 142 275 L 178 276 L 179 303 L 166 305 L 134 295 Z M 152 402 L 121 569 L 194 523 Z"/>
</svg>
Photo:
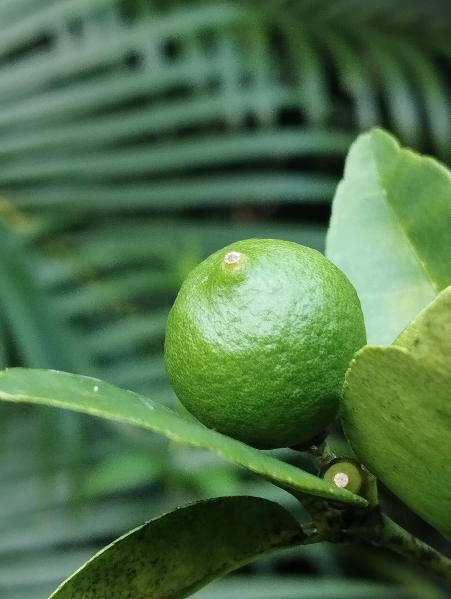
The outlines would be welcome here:
<svg viewBox="0 0 451 599">
<path fill-rule="evenodd" d="M 182 599 L 266 553 L 309 542 L 293 516 L 272 501 L 200 501 L 120 537 L 51 599 Z"/>
</svg>

